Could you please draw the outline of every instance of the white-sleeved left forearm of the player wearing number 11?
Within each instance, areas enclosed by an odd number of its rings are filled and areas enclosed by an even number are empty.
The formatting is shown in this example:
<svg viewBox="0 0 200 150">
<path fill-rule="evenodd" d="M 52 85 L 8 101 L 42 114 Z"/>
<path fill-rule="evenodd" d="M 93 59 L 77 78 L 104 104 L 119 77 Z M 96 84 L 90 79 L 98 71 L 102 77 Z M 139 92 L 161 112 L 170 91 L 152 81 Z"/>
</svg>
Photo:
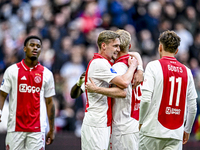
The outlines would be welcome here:
<svg viewBox="0 0 200 150">
<path fill-rule="evenodd" d="M 140 102 L 140 114 L 139 114 L 139 124 L 143 124 L 143 121 L 148 114 L 148 110 L 151 104 L 152 92 L 142 91 L 142 99 Z"/>
</svg>

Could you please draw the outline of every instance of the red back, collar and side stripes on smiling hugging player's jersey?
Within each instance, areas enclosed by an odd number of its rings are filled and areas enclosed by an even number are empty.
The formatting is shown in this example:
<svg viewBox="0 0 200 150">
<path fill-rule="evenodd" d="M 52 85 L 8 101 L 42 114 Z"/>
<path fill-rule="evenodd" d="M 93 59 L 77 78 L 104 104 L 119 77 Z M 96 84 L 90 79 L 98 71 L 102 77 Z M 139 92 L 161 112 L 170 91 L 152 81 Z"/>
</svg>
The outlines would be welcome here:
<svg viewBox="0 0 200 150">
<path fill-rule="evenodd" d="M 90 64 L 91 62 L 94 60 L 94 59 L 97 59 L 97 58 L 100 58 L 100 59 L 105 59 L 103 56 L 101 56 L 100 54 L 98 53 L 95 53 L 94 54 L 94 57 L 93 59 L 88 63 L 88 66 L 87 66 L 87 69 L 86 69 L 86 72 L 85 72 L 85 84 L 87 83 L 87 79 L 88 79 L 88 70 L 89 70 L 89 67 L 90 67 Z M 110 63 L 110 65 L 112 66 L 113 64 L 108 61 Z M 87 109 L 89 107 L 89 101 L 88 101 L 88 94 L 87 94 L 87 90 L 85 90 L 85 93 L 86 93 L 86 106 L 85 106 L 85 112 L 87 112 Z M 112 109 L 111 109 L 111 98 L 107 98 L 107 103 L 108 103 L 108 110 L 107 110 L 107 126 L 111 126 L 111 123 L 112 123 Z"/>
</svg>

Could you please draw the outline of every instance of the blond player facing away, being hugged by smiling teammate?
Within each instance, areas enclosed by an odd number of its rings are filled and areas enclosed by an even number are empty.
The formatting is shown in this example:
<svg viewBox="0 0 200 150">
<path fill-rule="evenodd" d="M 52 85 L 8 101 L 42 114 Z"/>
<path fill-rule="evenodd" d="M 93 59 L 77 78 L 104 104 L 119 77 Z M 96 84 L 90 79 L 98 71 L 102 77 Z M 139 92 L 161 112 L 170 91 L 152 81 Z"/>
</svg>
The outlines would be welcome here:
<svg viewBox="0 0 200 150">
<path fill-rule="evenodd" d="M 120 52 L 118 58 L 115 60 L 112 68 L 118 73 L 123 75 L 128 70 L 128 51 L 131 47 L 130 33 L 125 30 L 117 30 L 116 33 L 120 35 Z M 139 56 L 141 59 L 141 57 Z M 140 63 L 142 65 L 142 62 Z M 141 81 L 143 81 L 143 67 L 139 66 Z M 89 92 L 99 93 L 102 87 L 97 87 L 92 79 L 91 83 L 86 84 L 86 89 Z M 141 86 L 137 87 L 129 83 L 126 88 L 127 94 L 125 98 L 112 99 L 112 134 L 110 139 L 110 149 L 121 150 L 130 149 L 138 150 L 139 142 L 139 104 L 141 98 Z"/>
</svg>

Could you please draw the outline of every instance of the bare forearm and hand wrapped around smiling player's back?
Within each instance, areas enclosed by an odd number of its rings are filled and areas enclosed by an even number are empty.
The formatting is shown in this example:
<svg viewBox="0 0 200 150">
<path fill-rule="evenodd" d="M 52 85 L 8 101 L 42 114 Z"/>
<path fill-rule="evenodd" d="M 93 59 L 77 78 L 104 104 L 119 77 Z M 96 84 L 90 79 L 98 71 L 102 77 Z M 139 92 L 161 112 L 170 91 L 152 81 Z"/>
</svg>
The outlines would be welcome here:
<svg viewBox="0 0 200 150">
<path fill-rule="evenodd" d="M 106 95 L 108 97 L 112 98 L 125 98 L 126 97 L 126 91 L 123 89 L 120 89 L 118 87 L 111 87 L 111 88 L 105 88 L 105 87 L 98 87 L 95 85 L 92 78 L 89 77 L 90 82 L 87 82 L 85 85 L 85 89 L 87 89 L 90 93 L 99 93 Z"/>
</svg>

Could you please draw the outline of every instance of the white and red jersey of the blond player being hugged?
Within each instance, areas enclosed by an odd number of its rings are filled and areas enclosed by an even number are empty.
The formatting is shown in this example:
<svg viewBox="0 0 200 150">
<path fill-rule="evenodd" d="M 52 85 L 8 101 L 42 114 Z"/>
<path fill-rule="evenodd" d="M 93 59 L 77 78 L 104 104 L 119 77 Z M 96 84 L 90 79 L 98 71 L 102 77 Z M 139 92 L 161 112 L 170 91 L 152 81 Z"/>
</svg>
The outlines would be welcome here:
<svg viewBox="0 0 200 150">
<path fill-rule="evenodd" d="M 118 75 L 123 75 L 128 70 L 128 58 L 129 54 L 123 55 L 115 61 L 113 69 L 118 73 Z M 126 90 L 127 96 L 125 98 L 113 99 L 113 135 L 139 132 L 138 120 L 141 99 L 141 85 L 138 85 L 135 89 L 132 89 L 132 84 L 130 83 Z"/>
</svg>

